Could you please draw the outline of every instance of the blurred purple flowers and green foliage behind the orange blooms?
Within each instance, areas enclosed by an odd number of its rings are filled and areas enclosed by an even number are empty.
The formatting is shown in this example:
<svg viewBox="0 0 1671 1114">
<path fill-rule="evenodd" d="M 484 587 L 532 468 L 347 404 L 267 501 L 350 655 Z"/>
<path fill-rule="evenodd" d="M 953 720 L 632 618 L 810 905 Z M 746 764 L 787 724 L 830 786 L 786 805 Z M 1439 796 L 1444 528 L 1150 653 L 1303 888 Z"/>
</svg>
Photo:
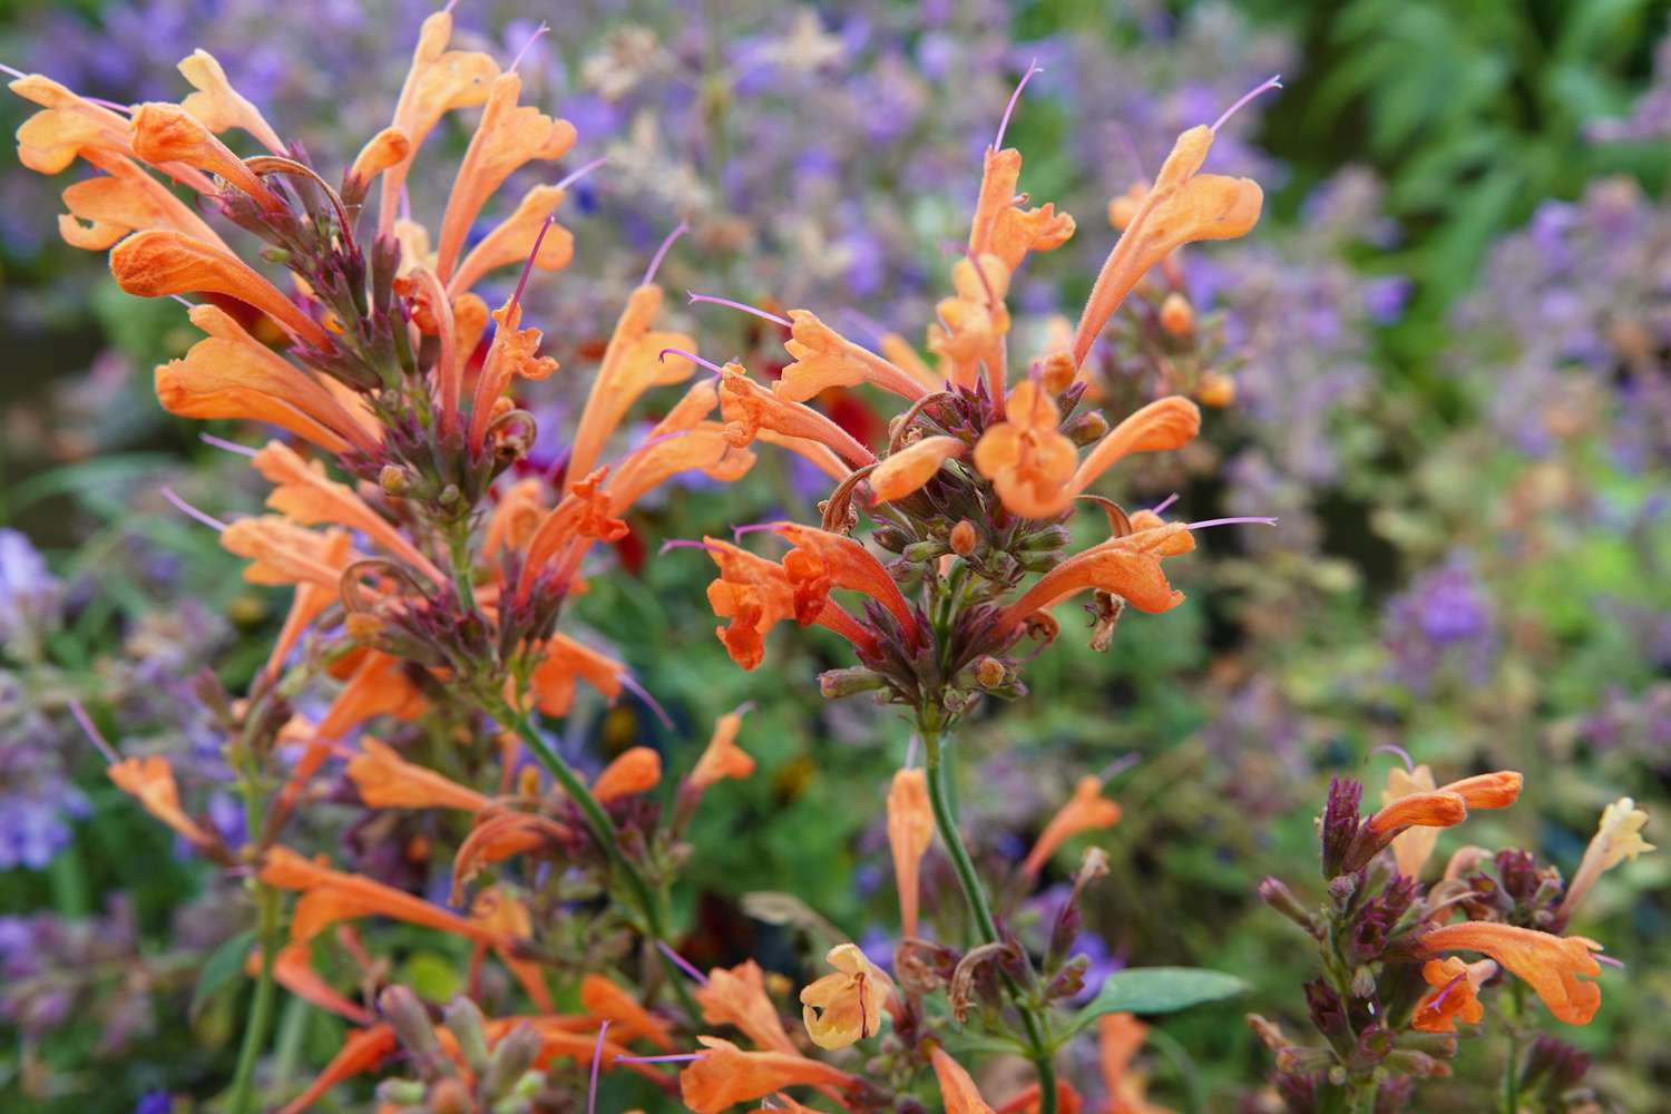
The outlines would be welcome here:
<svg viewBox="0 0 1671 1114">
<path fill-rule="evenodd" d="M 1155 172 L 1178 130 L 1285 73 L 1287 90 L 1213 150 L 1215 170 L 1268 185 L 1265 222 L 1178 261 L 1168 284 L 1188 329 L 1160 329 L 1155 291 L 1096 357 L 1111 394 L 1195 391 L 1211 372 L 1233 396 L 1181 461 L 1135 473 L 1130 504 L 1178 493 L 1191 518 L 1282 523 L 1201 534 L 1206 560 L 1176 573 L 1191 600 L 1165 625 L 1128 616 L 1108 655 L 1061 640 L 1019 706 L 964 732 L 978 762 L 962 812 L 989 863 L 1019 857 L 1079 772 L 1111 773 L 1125 813 L 1096 837 L 1113 870 L 1088 894 L 1078 944 L 1103 970 L 1242 972 L 1260 1012 L 1302 1027 L 1308 967 L 1255 889 L 1312 862 L 1328 777 L 1365 775 L 1387 743 L 1457 775 L 1537 770 L 1521 805 L 1470 838 L 1567 873 L 1616 797 L 1648 808 L 1653 838 L 1671 790 L 1666 3 L 460 7 L 460 40 L 498 57 L 541 15 L 555 23 L 521 63 L 530 99 L 576 124 L 580 159 L 608 157 L 576 185 L 568 281 L 530 291 L 528 321 L 560 359 L 600 347 L 637 281 L 628 264 L 678 219 L 692 249 L 670 257 L 670 289 L 807 306 L 867 339 L 929 317 L 981 147 L 1031 60 L 1044 73 L 1011 142 L 1034 195 L 1081 225 L 1016 277 L 1018 327 L 1049 329 L 1095 274 L 1108 202 Z M 388 117 L 406 65 L 391 43 L 426 12 L 22 5 L 0 25 L 0 58 L 132 102 L 177 97 L 174 63 L 204 47 L 334 162 Z M 0 119 L 15 127 L 20 105 Z M 167 484 L 219 513 L 254 509 L 259 493 L 242 461 L 149 397 L 150 364 L 189 342 L 184 314 L 89 281 L 100 261 L 57 241 L 52 189 L 15 165 L 0 185 L 0 1099 L 127 1111 L 150 1096 L 162 1111 L 159 1096 L 197 1092 L 236 1054 L 239 990 L 211 957 L 237 912 L 105 783 L 70 700 L 115 708 L 124 750 L 201 758 L 189 788 L 212 802 L 216 748 L 189 680 L 209 666 L 241 691 L 282 603 L 162 501 Z M 618 242 L 645 251 L 588 251 Z M 714 356 L 775 349 L 754 319 L 700 324 Z M 563 381 L 545 384 L 548 416 L 573 404 Z M 859 394 L 822 401 L 844 424 L 881 421 Z M 700 737 L 690 725 L 755 701 L 762 777 L 695 818 L 700 929 L 682 950 L 703 967 L 755 955 L 797 982 L 795 940 L 820 925 L 891 954 L 892 930 L 867 925 L 894 924 L 881 795 L 906 727 L 819 698 L 814 675 L 841 656 L 817 633 L 777 635 L 775 668 L 739 675 L 710 635 L 705 571 L 653 553 L 715 523 L 804 518 L 810 499 L 794 468 L 764 459 L 742 484 L 692 483 L 637 508 L 617 544 L 632 575 L 600 578 L 575 611 L 678 727 L 633 703 L 582 703 L 568 725 L 607 757 Z M 236 815 L 226 825 L 236 843 Z M 1076 858 L 1059 858 L 1046 877 L 1066 884 Z M 1576 925 L 1604 925 L 1631 967 L 1604 974 L 1602 1012 L 1571 1034 L 1592 1056 L 1599 1109 L 1653 1109 L 1671 1087 L 1656 1024 L 1671 975 L 1654 962 L 1666 872 L 1646 857 L 1608 875 Z M 926 909 L 954 887 L 931 852 Z M 1043 932 L 1053 912 L 1034 915 Z M 401 977 L 438 1002 L 453 990 L 421 954 Z M 279 1069 L 299 1077 L 339 1036 L 291 1009 Z M 1492 1057 L 1501 1042 L 1469 1046 L 1419 1109 L 1489 1109 Z M 1148 1059 L 1150 1097 L 1168 1107 L 1285 1109 L 1235 1007 L 1156 1024 Z M 1579 1109 L 1564 1102 L 1542 1109 Z"/>
</svg>

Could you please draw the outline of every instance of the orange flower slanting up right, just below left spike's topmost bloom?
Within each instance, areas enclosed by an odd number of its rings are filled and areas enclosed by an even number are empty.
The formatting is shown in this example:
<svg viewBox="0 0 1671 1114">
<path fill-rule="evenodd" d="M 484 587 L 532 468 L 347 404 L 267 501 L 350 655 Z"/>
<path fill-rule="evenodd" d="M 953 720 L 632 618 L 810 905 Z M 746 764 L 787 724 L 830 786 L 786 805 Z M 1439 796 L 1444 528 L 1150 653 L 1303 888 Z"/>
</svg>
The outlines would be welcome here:
<svg viewBox="0 0 1671 1114">
<path fill-rule="evenodd" d="M 500 73 L 488 85 L 488 104 L 453 180 L 446 215 L 441 217 L 434 271 L 443 282 L 458 262 L 476 214 L 505 179 L 535 159 L 561 159 L 575 144 L 573 124 L 553 120 L 535 107 L 518 105 L 518 97 L 521 75 L 515 72 Z"/>
</svg>

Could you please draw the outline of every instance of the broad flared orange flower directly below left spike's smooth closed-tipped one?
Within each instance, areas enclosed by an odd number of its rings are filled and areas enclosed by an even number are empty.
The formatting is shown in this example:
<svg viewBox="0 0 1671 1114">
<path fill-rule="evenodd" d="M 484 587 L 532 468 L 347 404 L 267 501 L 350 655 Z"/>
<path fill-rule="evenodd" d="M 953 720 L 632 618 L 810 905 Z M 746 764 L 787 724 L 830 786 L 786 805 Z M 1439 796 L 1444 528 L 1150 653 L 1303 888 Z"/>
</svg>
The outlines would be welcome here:
<svg viewBox="0 0 1671 1114">
<path fill-rule="evenodd" d="M 140 235 L 149 232 L 130 235 L 122 246 Z M 180 418 L 267 423 L 331 453 L 378 453 L 379 434 L 368 418 L 349 409 L 311 372 L 249 336 L 231 314 L 204 304 L 194 306 L 189 316 L 209 337 L 194 344 L 184 359 L 157 366 L 157 399 L 165 411 Z"/>
</svg>

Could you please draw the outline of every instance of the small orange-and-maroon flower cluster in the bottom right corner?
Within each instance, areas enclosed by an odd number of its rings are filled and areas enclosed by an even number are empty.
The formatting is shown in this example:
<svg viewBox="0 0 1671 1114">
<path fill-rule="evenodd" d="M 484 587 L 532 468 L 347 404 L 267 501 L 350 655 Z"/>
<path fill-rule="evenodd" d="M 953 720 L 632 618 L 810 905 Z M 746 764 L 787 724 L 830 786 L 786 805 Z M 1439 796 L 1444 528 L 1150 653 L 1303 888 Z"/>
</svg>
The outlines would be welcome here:
<svg viewBox="0 0 1671 1114">
<path fill-rule="evenodd" d="M 1415 1081 L 1450 1074 L 1457 1037 L 1479 1032 L 1482 992 L 1496 987 L 1507 987 L 1509 999 L 1506 1094 L 1547 1089 L 1554 1099 L 1577 1086 L 1582 1071 L 1569 1071 L 1576 1052 L 1529 1039 L 1536 1022 L 1522 987 L 1556 1020 L 1586 1025 L 1596 1015 L 1602 945 L 1564 930 L 1604 870 L 1653 850 L 1639 835 L 1648 813 L 1629 798 L 1609 805 L 1571 882 L 1527 852 L 1470 845 L 1424 884 L 1440 833 L 1472 812 L 1507 808 L 1521 783 L 1519 773 L 1496 772 L 1435 785 L 1425 765 L 1395 767 L 1382 807 L 1364 817 L 1362 783 L 1333 780 L 1318 817 L 1325 902 L 1307 909 L 1277 879 L 1260 887 L 1272 909 L 1317 942 L 1322 960 L 1320 975 L 1305 984 L 1322 1046 L 1293 1042 L 1277 1022 L 1248 1017 L 1275 1054 L 1273 1082 L 1287 1109 L 1307 1114 L 1342 1101 L 1414 1109 Z M 1554 1061 L 1564 1067 L 1556 1071 Z M 1512 1104 L 1521 1109 L 1519 1099 Z"/>
</svg>

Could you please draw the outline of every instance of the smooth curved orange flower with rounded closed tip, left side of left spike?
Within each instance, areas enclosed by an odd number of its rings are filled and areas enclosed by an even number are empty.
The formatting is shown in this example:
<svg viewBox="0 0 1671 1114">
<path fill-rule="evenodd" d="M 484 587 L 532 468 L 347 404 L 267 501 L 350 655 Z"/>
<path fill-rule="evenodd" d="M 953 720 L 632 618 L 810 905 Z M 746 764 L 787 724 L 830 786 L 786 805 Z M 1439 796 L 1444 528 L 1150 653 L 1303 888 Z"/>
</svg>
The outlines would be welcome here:
<svg viewBox="0 0 1671 1114">
<path fill-rule="evenodd" d="M 117 286 L 137 297 L 226 294 L 267 314 L 297 341 L 331 349 L 331 334 L 254 267 L 216 244 L 172 229 L 147 229 L 110 252 Z"/>
</svg>

